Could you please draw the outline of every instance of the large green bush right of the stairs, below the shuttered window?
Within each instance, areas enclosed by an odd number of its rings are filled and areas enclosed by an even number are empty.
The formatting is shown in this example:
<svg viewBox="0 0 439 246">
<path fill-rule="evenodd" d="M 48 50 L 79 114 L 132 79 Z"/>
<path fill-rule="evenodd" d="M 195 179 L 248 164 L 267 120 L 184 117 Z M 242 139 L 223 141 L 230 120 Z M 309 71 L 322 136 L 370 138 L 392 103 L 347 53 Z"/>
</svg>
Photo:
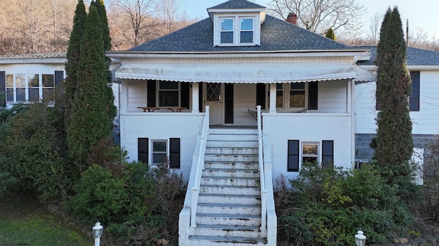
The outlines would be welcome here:
<svg viewBox="0 0 439 246">
<path fill-rule="evenodd" d="M 276 193 L 278 238 L 295 245 L 355 245 L 357 230 L 368 243 L 405 236 L 414 224 L 407 202 L 375 168 L 302 169 L 289 180 L 291 189 Z"/>
</svg>

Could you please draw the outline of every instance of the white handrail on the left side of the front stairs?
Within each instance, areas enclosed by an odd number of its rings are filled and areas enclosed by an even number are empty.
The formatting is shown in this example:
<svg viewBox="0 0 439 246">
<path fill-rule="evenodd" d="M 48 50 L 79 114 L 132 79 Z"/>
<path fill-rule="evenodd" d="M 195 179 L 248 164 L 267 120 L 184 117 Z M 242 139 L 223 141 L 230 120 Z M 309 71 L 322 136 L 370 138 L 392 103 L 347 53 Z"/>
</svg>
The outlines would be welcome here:
<svg viewBox="0 0 439 246">
<path fill-rule="evenodd" d="M 204 154 L 206 153 L 206 141 L 207 133 L 209 132 L 209 106 L 206 106 L 206 114 L 204 115 L 204 121 L 202 131 L 200 135 L 200 151 L 198 152 L 197 172 L 195 174 L 195 184 L 193 184 L 192 190 L 192 202 L 191 202 L 191 227 L 196 227 L 195 223 L 198 206 L 198 195 L 200 194 L 201 173 L 204 169 Z"/>
</svg>

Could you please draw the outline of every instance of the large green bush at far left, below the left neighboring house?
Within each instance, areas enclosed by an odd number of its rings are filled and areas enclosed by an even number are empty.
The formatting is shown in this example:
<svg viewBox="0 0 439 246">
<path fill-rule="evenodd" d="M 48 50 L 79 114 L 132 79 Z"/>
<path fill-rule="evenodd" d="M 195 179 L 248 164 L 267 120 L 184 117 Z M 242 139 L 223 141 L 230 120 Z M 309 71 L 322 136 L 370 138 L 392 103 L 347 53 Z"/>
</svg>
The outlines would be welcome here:
<svg viewBox="0 0 439 246">
<path fill-rule="evenodd" d="M 66 197 L 75 179 L 63 157 L 60 114 L 58 107 L 45 103 L 28 105 L 8 118 L 1 146 L 8 157 L 5 171 L 18 178 L 23 188 L 36 191 L 42 200 Z"/>
</svg>

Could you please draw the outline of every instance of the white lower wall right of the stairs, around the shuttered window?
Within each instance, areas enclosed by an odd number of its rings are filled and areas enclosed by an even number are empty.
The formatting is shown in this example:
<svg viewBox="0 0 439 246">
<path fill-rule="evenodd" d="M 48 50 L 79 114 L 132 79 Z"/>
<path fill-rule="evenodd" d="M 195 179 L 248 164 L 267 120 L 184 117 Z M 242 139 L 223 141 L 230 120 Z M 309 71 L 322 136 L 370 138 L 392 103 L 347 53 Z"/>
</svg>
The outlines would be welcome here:
<svg viewBox="0 0 439 246">
<path fill-rule="evenodd" d="M 279 174 L 287 178 L 298 176 L 298 172 L 287 172 L 288 140 L 318 141 L 320 150 L 322 140 L 333 140 L 333 164 L 346 169 L 353 167 L 352 120 L 350 114 L 344 113 L 263 114 L 263 134 L 268 135 L 272 146 L 273 177 Z"/>
</svg>

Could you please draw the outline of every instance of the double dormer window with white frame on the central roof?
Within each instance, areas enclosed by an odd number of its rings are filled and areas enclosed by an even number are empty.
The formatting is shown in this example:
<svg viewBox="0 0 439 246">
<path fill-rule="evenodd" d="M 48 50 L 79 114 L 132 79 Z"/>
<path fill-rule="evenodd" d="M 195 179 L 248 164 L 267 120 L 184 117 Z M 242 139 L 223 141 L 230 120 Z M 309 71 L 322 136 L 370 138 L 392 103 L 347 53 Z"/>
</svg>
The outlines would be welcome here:
<svg viewBox="0 0 439 246">
<path fill-rule="evenodd" d="M 259 15 L 215 16 L 215 46 L 254 46 L 260 44 Z"/>
</svg>

